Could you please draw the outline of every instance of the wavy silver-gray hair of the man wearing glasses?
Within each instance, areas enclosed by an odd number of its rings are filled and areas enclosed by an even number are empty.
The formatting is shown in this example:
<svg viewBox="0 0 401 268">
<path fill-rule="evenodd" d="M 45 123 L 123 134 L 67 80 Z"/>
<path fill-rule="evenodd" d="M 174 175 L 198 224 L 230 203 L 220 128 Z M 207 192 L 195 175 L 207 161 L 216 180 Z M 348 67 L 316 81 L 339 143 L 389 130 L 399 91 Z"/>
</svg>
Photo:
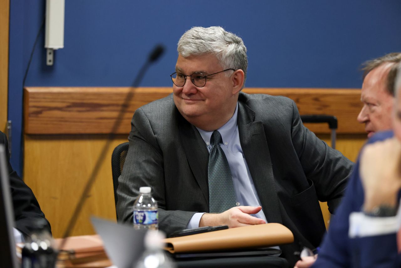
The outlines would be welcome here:
<svg viewBox="0 0 401 268">
<path fill-rule="evenodd" d="M 241 69 L 245 79 L 247 77 L 247 48 L 241 37 L 225 31 L 222 27 L 192 27 L 178 41 L 177 51 L 182 57 L 213 54 L 223 69 Z M 231 72 L 226 75 L 230 76 Z"/>
</svg>

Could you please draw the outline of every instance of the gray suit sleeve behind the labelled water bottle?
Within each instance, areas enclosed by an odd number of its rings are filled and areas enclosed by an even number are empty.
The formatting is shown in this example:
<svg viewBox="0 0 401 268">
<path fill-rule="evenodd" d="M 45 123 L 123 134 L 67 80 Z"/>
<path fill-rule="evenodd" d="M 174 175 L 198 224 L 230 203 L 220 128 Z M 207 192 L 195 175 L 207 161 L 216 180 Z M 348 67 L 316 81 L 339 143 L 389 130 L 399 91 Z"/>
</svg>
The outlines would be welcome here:
<svg viewBox="0 0 401 268">
<path fill-rule="evenodd" d="M 196 212 L 170 211 L 166 208 L 163 155 L 151 123 L 141 108 L 134 113 L 131 125 L 132 131 L 128 137 L 130 146 L 118 180 L 116 209 L 119 220 L 133 222 L 133 205 L 139 188 L 152 186 L 152 196 L 158 203 L 159 228 L 166 233 L 185 229 Z"/>
</svg>

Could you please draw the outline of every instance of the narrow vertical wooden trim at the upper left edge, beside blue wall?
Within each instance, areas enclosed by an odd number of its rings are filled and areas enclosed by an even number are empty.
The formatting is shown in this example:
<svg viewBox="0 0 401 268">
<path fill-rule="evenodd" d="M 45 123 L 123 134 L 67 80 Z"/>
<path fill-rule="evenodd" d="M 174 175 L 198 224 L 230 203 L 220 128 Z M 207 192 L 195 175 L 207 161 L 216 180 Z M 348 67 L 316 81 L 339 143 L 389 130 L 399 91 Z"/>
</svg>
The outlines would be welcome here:
<svg viewBox="0 0 401 268">
<path fill-rule="evenodd" d="M 0 0 L 0 130 L 5 131 L 8 103 L 8 25 L 10 0 Z"/>
</svg>

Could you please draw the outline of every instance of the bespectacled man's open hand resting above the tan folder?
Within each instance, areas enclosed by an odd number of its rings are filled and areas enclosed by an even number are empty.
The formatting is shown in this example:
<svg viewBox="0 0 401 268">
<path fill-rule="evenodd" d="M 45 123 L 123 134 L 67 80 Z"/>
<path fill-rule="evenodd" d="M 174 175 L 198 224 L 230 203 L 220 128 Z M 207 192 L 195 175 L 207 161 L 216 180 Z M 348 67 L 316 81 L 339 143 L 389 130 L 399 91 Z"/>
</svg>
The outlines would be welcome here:
<svg viewBox="0 0 401 268">
<path fill-rule="evenodd" d="M 256 225 L 266 223 L 262 219 L 258 219 L 249 214 L 258 213 L 262 209 L 259 207 L 239 206 L 233 207 L 223 213 L 212 214 L 205 213 L 202 215 L 199 227 L 227 225 L 229 228 L 240 227 L 246 225 Z"/>
</svg>

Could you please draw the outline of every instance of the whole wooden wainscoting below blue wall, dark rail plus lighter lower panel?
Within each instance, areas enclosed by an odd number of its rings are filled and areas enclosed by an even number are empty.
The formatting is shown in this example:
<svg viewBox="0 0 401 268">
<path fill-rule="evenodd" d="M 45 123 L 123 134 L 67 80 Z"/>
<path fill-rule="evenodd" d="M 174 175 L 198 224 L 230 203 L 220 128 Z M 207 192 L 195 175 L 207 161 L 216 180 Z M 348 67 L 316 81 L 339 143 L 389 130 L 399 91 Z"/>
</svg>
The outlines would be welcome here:
<svg viewBox="0 0 401 268">
<path fill-rule="evenodd" d="M 82 133 L 91 133 L 91 131 L 107 133 L 128 88 L 113 88 L 112 90 L 111 92 L 111 88 L 26 89 L 25 127 L 26 134 L 31 134 L 25 135 L 24 180 L 38 198 L 46 217 L 51 222 L 55 237 L 60 237 L 65 231 L 83 185 L 89 178 L 107 138 L 105 134 Z M 363 127 L 356 122 L 356 115 L 360 109 L 360 90 L 327 90 L 326 92 L 326 89 L 255 88 L 244 91 L 272 95 L 284 94 L 296 101 L 300 113 L 303 114 L 332 113 L 336 115 L 342 132 L 354 133 L 339 133 L 337 136 L 337 149 L 350 160 L 356 159 L 360 147 L 365 142 L 366 134 L 363 132 Z M 167 96 L 170 92 L 171 88 L 135 90 L 134 100 L 130 103 L 122 126 L 118 130 L 125 134 L 117 135 L 113 140 L 72 235 L 94 233 L 89 221 L 90 215 L 115 219 L 111 151 L 119 143 L 127 141 L 132 113 L 136 107 Z M 345 121 L 348 123 L 345 124 Z M 316 125 L 311 125 L 310 128 L 313 130 L 314 127 L 319 132 Z M 326 130 L 327 126 L 322 125 L 321 129 Z M 65 132 L 76 134 L 57 134 Z M 319 133 L 318 137 L 330 145 L 330 135 L 324 134 L 324 131 L 320 132 L 323 133 Z M 35 134 L 32 135 L 32 133 Z M 330 215 L 326 204 L 322 203 L 321 206 L 327 225 Z"/>
</svg>

